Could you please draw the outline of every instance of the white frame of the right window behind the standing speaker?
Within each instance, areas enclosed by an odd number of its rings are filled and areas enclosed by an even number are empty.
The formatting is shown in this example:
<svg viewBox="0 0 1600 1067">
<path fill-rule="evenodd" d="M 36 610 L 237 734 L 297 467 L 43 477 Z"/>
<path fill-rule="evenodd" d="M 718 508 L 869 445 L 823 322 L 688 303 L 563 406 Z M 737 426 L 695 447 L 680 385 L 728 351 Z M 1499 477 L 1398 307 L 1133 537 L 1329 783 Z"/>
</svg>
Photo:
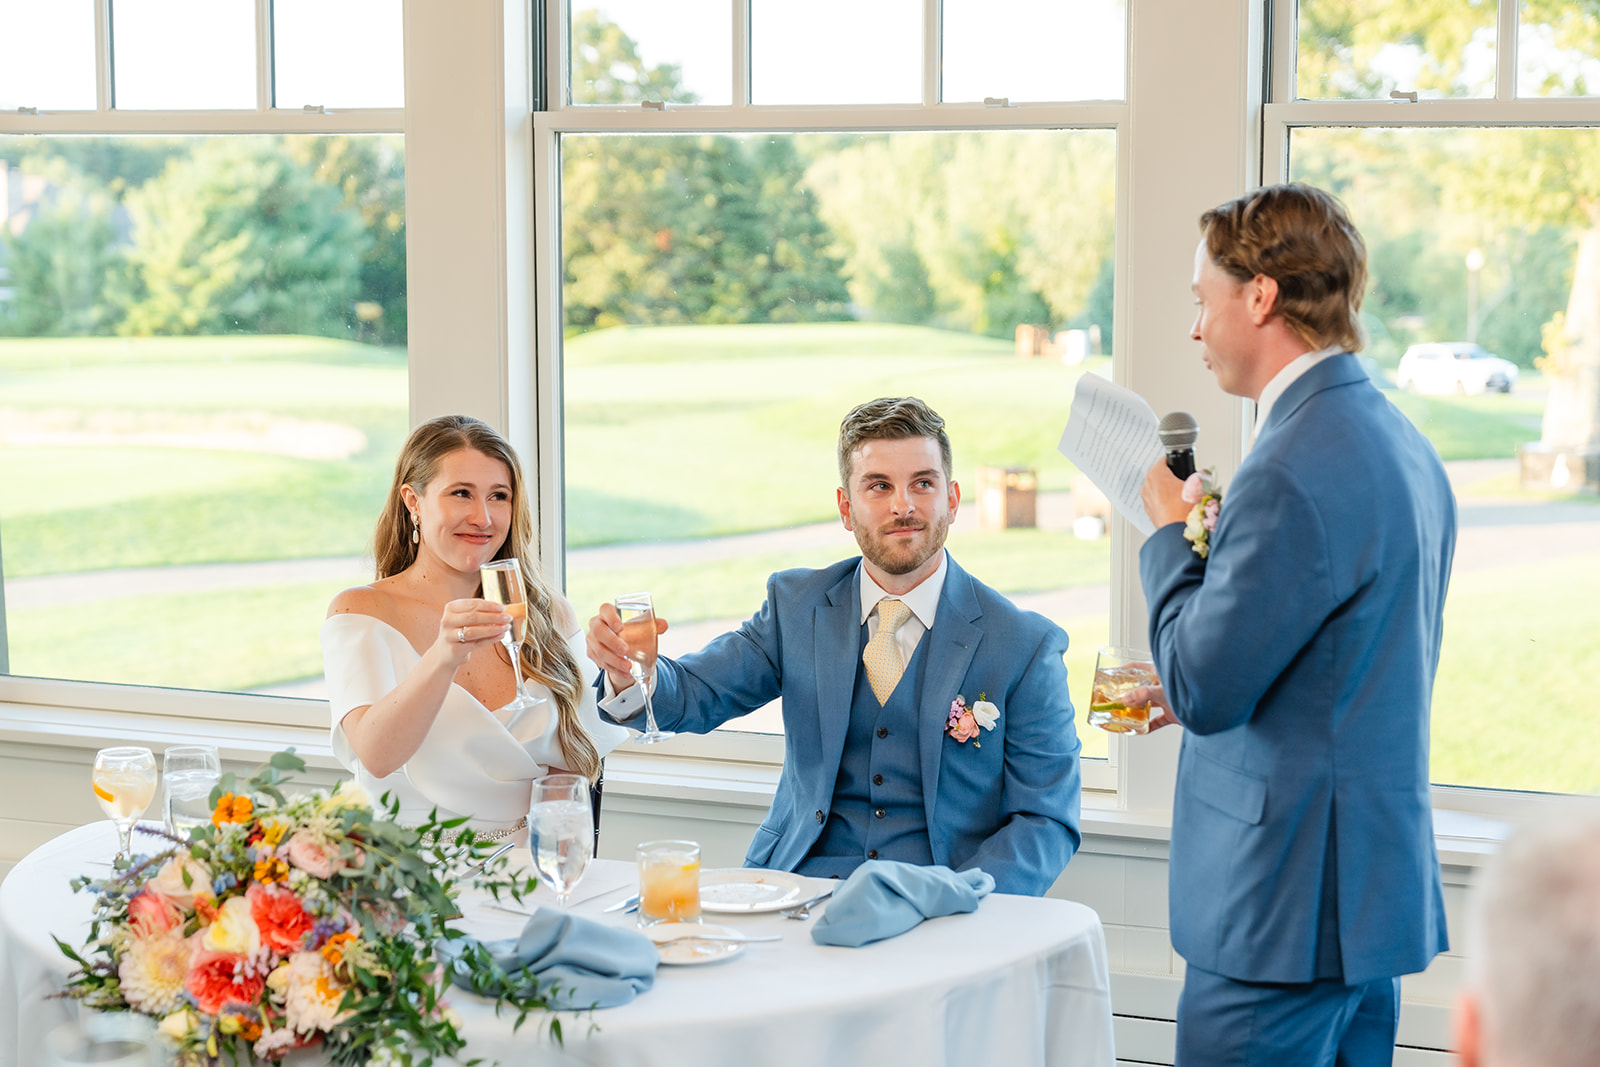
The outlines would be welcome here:
<svg viewBox="0 0 1600 1067">
<path fill-rule="evenodd" d="M 1498 0 L 1498 45 L 1494 96 L 1482 99 L 1298 99 L 1294 61 L 1298 56 L 1299 0 L 1267 0 L 1272 21 L 1269 99 L 1262 106 L 1261 184 L 1288 181 L 1290 138 L 1302 128 L 1597 128 L 1600 96 L 1542 98 L 1517 96 L 1518 0 Z M 1445 638 L 1450 640 L 1448 635 Z M 1483 832 L 1483 821 L 1526 822 L 1547 817 L 1570 801 L 1570 793 L 1523 792 L 1475 785 L 1430 784 L 1435 822 Z M 1477 829 L 1472 829 L 1477 827 Z"/>
</svg>

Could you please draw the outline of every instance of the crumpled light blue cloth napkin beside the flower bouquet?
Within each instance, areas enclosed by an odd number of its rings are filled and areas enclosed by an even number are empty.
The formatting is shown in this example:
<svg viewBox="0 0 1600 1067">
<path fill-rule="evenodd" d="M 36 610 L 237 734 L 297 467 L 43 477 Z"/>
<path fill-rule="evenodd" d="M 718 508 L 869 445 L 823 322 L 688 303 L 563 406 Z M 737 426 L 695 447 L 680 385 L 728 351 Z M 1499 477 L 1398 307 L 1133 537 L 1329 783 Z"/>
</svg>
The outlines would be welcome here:
<svg viewBox="0 0 1600 1067">
<path fill-rule="evenodd" d="M 470 974 L 461 958 L 474 942 L 467 937 L 443 942 L 450 958 L 450 981 L 477 993 L 494 997 L 502 984 Z M 494 961 L 512 985 L 536 979 L 555 984 L 550 1006 L 573 1011 L 626 1005 L 656 981 L 661 953 L 650 937 L 634 929 L 605 926 L 589 918 L 541 907 L 528 918 L 520 937 L 485 941 Z"/>
</svg>

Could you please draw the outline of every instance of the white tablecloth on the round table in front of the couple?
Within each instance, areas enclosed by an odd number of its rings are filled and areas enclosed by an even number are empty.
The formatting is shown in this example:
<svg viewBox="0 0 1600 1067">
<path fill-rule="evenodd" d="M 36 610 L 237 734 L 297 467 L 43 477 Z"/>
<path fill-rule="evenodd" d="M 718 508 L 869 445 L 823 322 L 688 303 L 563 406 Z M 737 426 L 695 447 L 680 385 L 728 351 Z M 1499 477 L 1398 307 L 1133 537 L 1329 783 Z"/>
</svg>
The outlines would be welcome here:
<svg viewBox="0 0 1600 1067">
<path fill-rule="evenodd" d="M 91 861 L 112 851 L 109 822 L 78 827 L 35 849 L 0 885 L 0 1064 L 35 1062 L 43 1033 L 74 1017 L 74 1001 L 46 1000 L 70 971 L 50 934 L 82 947 L 90 897 L 74 896 L 67 881 L 101 873 L 104 867 Z M 518 854 L 526 861 L 525 849 Z M 632 864 L 595 861 L 573 893 L 573 910 L 632 925 L 632 915 L 600 912 L 632 886 Z M 462 904 L 462 928 L 475 936 L 509 937 L 522 926 L 522 918 L 482 909 L 470 894 Z M 997 893 L 970 915 L 930 920 L 864 949 L 818 945 L 810 921 L 779 915 L 707 913 L 706 920 L 784 939 L 752 944 L 714 965 L 662 966 L 654 987 L 634 1003 L 563 1016 L 566 1049 L 554 1062 L 1114 1062 L 1104 934 L 1082 904 Z M 512 1033 L 512 1019 L 496 1017 L 490 1003 L 461 990 L 450 1000 L 466 1024 L 470 1056 L 522 1064 L 544 1040 L 533 1019 Z"/>
</svg>

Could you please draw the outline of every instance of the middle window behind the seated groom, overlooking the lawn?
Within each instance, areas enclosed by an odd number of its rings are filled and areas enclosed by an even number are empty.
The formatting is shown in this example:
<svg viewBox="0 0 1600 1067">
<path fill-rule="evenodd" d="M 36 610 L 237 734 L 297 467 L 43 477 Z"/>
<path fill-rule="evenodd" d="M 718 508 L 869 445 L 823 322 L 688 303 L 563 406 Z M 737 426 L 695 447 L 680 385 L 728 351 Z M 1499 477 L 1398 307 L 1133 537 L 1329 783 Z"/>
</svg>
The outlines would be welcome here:
<svg viewBox="0 0 1600 1067">
<path fill-rule="evenodd" d="M 1051 5 L 1013 6 L 1014 26 L 1056 27 Z M 1074 536 L 1090 504 L 1074 506 L 1054 445 L 1077 376 L 1110 373 L 1125 107 L 966 101 L 986 80 L 987 96 L 1120 99 L 1122 5 L 1088 6 L 1118 43 L 1093 90 L 1070 64 L 1022 83 L 957 50 L 950 102 L 930 94 L 939 53 L 925 53 L 920 3 L 813 5 L 795 22 L 754 0 L 747 46 L 704 35 L 720 58 L 635 5 L 573 5 L 552 27 L 570 85 L 554 98 L 582 104 L 538 117 L 560 173 L 539 218 L 560 235 L 546 322 L 562 338 L 546 344 L 581 614 L 648 587 L 672 622 L 662 649 L 683 653 L 750 616 L 774 569 L 856 555 L 834 501 L 838 421 L 912 394 L 949 422 L 952 553 L 1067 629 L 1086 705 L 1110 632 L 1109 545 Z M 730 70 L 749 77 L 718 107 Z M 1006 472 L 1037 493 L 1037 526 L 995 525 Z M 766 709 L 728 729 L 781 721 Z M 1104 763 L 1106 734 L 1080 736 Z"/>
</svg>

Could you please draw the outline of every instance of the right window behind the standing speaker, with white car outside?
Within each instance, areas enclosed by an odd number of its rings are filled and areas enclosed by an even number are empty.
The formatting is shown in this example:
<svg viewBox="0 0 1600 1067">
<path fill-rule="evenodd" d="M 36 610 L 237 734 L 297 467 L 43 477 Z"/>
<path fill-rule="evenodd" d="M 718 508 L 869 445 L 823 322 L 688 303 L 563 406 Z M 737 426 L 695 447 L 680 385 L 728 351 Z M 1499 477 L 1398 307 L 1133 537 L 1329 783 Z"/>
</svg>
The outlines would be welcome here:
<svg viewBox="0 0 1600 1067">
<path fill-rule="evenodd" d="M 1366 355 L 1456 486 L 1432 777 L 1595 792 L 1600 731 L 1579 680 L 1600 670 L 1600 349 L 1587 328 L 1600 315 L 1600 106 L 1541 98 L 1590 93 L 1600 26 L 1558 0 L 1386 3 L 1363 19 L 1352 6 L 1301 2 L 1296 93 L 1278 86 L 1267 147 L 1286 154 L 1280 176 L 1350 208 L 1373 275 Z M 1360 99 L 1378 90 L 1419 101 Z"/>
</svg>

